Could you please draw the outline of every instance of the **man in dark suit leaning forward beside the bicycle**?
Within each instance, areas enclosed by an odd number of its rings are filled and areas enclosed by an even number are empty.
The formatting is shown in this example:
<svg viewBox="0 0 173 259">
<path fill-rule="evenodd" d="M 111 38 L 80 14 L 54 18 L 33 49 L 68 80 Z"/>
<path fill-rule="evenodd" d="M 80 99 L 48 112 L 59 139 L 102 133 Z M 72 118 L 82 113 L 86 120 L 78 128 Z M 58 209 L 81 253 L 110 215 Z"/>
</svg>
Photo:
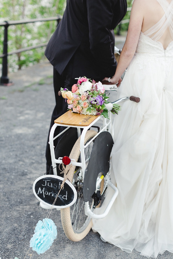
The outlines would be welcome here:
<svg viewBox="0 0 173 259">
<path fill-rule="evenodd" d="M 126 11 L 126 0 L 67 0 L 63 18 L 45 50 L 47 59 L 53 65 L 56 100 L 50 129 L 54 120 L 67 111 L 67 104 L 58 95 L 61 87 L 71 90 L 72 85 L 77 83 L 76 77 L 86 76 L 101 81 L 115 74 L 117 63 L 113 29 Z M 61 131 L 62 127 L 57 127 L 55 134 Z M 48 142 L 46 160 L 48 171 L 51 165 Z"/>
</svg>

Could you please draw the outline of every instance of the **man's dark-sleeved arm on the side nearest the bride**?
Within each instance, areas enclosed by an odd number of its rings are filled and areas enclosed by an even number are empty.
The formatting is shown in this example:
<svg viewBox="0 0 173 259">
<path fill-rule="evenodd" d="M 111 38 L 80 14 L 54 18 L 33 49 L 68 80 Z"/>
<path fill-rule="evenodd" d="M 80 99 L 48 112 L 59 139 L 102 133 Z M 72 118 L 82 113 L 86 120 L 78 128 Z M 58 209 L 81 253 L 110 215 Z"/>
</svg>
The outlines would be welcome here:
<svg viewBox="0 0 173 259">
<path fill-rule="evenodd" d="M 87 0 L 90 49 L 103 76 L 115 74 L 114 40 L 110 38 L 115 0 Z"/>
</svg>

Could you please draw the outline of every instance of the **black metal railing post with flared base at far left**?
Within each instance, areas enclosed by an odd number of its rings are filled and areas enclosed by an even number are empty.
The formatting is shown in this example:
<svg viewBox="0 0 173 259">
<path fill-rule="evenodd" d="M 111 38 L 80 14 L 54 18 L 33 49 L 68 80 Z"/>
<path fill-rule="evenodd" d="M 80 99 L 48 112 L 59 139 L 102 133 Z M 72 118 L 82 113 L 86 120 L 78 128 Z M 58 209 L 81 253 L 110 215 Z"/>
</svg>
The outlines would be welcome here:
<svg viewBox="0 0 173 259">
<path fill-rule="evenodd" d="M 4 42 L 3 42 L 3 55 L 4 57 L 2 58 L 2 76 L 0 79 L 0 84 L 4 86 L 9 86 L 12 83 L 9 82 L 8 78 L 8 22 L 6 22 L 6 25 L 4 25 Z"/>
</svg>

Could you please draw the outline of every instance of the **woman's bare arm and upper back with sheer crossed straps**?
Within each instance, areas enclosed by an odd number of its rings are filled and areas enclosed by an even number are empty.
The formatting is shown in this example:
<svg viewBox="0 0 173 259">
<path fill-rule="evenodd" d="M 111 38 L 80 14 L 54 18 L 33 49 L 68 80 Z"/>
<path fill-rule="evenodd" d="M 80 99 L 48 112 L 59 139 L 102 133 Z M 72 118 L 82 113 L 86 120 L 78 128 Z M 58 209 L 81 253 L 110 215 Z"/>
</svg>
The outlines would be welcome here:
<svg viewBox="0 0 173 259">
<path fill-rule="evenodd" d="M 111 83 L 119 82 L 136 51 L 141 31 L 166 49 L 173 41 L 173 0 L 134 0 L 126 42 Z M 105 78 L 107 80 L 108 78 Z"/>
</svg>

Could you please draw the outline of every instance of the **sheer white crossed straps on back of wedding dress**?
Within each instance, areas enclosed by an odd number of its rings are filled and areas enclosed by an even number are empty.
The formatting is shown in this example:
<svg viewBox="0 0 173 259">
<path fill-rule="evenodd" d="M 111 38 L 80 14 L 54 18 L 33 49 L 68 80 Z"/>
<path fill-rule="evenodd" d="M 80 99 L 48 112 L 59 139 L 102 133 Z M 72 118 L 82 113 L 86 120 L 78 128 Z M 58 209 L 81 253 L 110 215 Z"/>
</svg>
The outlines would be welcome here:
<svg viewBox="0 0 173 259">
<path fill-rule="evenodd" d="M 166 29 L 169 28 L 171 38 L 173 39 L 173 0 L 170 4 L 166 0 L 157 1 L 163 8 L 165 14 L 155 25 L 143 34 L 150 37 L 154 41 L 158 41 Z"/>
</svg>

